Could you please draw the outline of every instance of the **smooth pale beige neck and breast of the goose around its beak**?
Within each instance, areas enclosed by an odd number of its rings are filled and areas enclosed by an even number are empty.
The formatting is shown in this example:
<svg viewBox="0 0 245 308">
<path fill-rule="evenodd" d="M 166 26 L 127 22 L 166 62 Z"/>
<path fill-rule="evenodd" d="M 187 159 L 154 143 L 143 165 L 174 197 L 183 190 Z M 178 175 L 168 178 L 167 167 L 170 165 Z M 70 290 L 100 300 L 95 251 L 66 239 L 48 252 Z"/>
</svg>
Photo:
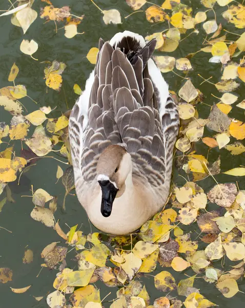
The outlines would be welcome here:
<svg viewBox="0 0 245 308">
<path fill-rule="evenodd" d="M 138 229 L 147 219 L 154 214 L 154 195 L 142 182 L 133 179 L 132 171 L 125 181 L 124 191 L 115 198 L 112 212 L 109 217 L 104 217 L 100 212 L 101 189 L 91 204 L 87 213 L 91 222 L 107 234 L 128 234 Z"/>
</svg>

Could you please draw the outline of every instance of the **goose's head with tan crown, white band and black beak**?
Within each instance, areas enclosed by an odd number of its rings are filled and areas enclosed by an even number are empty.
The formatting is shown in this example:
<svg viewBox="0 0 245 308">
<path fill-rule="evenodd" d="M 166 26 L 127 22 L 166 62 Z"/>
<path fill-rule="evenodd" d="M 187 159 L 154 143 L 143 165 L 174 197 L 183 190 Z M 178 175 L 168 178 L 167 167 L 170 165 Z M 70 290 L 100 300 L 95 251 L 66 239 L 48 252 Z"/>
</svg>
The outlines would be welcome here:
<svg viewBox="0 0 245 308">
<path fill-rule="evenodd" d="M 109 217 L 116 196 L 125 189 L 125 181 L 131 171 L 131 156 L 119 145 L 109 145 L 97 163 L 97 181 L 102 192 L 101 214 Z"/>
</svg>

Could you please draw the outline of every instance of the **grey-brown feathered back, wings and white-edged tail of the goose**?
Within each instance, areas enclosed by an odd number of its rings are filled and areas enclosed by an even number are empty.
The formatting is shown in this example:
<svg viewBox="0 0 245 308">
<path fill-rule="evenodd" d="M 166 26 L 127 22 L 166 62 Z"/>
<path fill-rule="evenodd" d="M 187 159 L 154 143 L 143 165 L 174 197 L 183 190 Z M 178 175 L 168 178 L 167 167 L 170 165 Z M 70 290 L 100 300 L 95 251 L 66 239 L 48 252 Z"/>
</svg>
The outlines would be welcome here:
<svg viewBox="0 0 245 308">
<path fill-rule="evenodd" d="M 70 115 L 77 190 L 96 178 L 98 158 L 111 144 L 127 149 L 132 176 L 148 182 L 160 198 L 169 189 L 179 118 L 151 60 L 155 45 L 129 31 L 110 42 L 100 39 L 95 69 Z"/>
</svg>

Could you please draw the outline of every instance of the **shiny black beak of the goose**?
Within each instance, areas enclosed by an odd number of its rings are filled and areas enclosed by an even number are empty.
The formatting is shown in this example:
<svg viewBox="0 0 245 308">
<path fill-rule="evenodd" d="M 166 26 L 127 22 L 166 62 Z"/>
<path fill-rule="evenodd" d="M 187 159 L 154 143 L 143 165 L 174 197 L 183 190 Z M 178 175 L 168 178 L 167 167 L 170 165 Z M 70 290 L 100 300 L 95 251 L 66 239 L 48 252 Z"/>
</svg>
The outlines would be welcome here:
<svg viewBox="0 0 245 308">
<path fill-rule="evenodd" d="M 109 217 L 111 215 L 112 204 L 116 197 L 118 189 L 110 181 L 98 181 L 101 191 L 102 191 L 102 200 L 101 200 L 101 214 L 104 217 Z"/>
</svg>

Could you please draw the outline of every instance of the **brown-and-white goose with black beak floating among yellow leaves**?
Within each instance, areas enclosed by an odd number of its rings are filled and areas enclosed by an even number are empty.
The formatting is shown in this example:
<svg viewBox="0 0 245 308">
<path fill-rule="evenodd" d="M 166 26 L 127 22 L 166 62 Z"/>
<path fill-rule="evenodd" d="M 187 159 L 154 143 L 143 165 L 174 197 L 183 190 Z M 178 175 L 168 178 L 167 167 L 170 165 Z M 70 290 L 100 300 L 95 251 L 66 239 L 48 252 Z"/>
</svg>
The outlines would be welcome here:
<svg viewBox="0 0 245 308">
<path fill-rule="evenodd" d="M 110 235 L 134 232 L 169 196 L 179 116 L 152 60 L 155 46 L 131 31 L 100 38 L 69 118 L 77 198 Z"/>
</svg>

